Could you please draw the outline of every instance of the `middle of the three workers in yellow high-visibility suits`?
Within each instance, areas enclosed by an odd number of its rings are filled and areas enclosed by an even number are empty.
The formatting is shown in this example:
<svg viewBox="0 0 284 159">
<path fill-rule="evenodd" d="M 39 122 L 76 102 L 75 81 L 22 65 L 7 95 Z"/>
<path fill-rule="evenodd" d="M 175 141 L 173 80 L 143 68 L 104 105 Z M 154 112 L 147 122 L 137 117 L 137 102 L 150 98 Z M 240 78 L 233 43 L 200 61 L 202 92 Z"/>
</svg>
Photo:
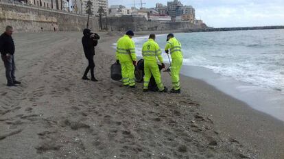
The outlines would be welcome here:
<svg viewBox="0 0 284 159">
<path fill-rule="evenodd" d="M 155 34 L 150 34 L 149 40 L 143 44 L 142 47 L 142 56 L 144 59 L 144 87 L 143 91 L 148 91 L 148 86 L 150 82 L 150 78 L 153 75 L 155 82 L 158 86 L 158 91 L 167 92 L 167 88 L 163 86 L 160 69 L 158 68 L 158 60 L 162 64 L 162 68 L 165 68 L 165 64 L 163 63 L 163 57 L 161 55 L 161 49 L 158 46 L 157 42 L 155 42 Z"/>
</svg>

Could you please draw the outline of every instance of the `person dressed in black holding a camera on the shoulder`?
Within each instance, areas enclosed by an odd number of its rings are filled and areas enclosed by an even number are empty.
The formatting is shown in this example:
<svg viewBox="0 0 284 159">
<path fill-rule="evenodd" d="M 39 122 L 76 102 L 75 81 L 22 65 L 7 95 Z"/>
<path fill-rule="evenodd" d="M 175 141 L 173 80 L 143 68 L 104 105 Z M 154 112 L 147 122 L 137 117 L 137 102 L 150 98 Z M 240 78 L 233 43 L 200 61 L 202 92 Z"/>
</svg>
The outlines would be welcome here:
<svg viewBox="0 0 284 159">
<path fill-rule="evenodd" d="M 95 79 L 94 75 L 94 69 L 95 69 L 94 56 L 95 56 L 95 46 L 97 46 L 97 40 L 98 40 L 95 36 L 98 35 L 91 33 L 90 29 L 84 29 L 83 34 L 84 36 L 82 38 L 82 44 L 86 59 L 88 60 L 88 66 L 86 68 L 86 71 L 82 79 L 89 80 L 87 74 L 88 71 L 91 70 L 91 80 L 93 82 L 97 82 L 97 79 Z"/>
</svg>

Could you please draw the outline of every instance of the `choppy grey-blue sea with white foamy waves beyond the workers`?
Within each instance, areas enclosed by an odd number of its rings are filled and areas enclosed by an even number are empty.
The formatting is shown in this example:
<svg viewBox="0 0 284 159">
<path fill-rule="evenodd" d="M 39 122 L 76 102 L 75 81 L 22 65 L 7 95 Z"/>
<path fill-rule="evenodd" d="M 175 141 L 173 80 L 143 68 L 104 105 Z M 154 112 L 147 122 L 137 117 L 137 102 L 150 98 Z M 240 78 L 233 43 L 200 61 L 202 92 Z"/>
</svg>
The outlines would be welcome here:
<svg viewBox="0 0 284 159">
<path fill-rule="evenodd" d="M 239 82 L 284 92 L 284 29 L 176 34 L 184 64 L 202 66 Z M 134 38 L 137 55 L 147 37 Z M 165 35 L 156 41 L 165 47 Z M 167 61 L 164 53 L 163 57 Z"/>
</svg>

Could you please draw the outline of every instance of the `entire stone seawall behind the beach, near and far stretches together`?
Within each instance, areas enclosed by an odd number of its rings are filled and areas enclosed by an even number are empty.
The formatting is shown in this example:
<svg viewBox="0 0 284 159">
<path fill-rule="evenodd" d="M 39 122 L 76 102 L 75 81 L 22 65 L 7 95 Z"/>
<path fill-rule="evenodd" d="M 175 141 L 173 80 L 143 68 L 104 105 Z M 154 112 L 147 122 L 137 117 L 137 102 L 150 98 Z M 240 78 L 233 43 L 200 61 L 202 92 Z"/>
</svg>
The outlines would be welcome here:
<svg viewBox="0 0 284 159">
<path fill-rule="evenodd" d="M 12 25 L 16 32 L 41 32 L 42 28 L 44 32 L 51 32 L 54 29 L 64 32 L 80 32 L 86 27 L 86 21 L 87 16 L 80 14 L 37 8 L 21 3 L 1 3 L 0 1 L 0 32 L 4 30 L 6 25 Z M 135 16 L 103 18 L 102 26 L 106 28 L 106 25 L 109 31 L 204 29 L 202 25 L 189 22 L 147 21 L 143 17 Z M 99 19 L 91 17 L 89 27 L 95 32 L 99 31 Z"/>
</svg>

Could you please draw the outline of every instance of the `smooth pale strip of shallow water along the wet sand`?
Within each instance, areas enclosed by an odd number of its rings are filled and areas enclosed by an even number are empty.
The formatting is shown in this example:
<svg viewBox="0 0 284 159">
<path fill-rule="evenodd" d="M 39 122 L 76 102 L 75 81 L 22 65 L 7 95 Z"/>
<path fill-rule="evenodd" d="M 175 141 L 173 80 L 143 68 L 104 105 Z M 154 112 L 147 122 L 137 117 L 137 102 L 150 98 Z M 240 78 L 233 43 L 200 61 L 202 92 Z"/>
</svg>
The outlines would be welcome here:
<svg viewBox="0 0 284 159">
<path fill-rule="evenodd" d="M 284 108 L 282 108 L 284 101 L 282 95 L 276 90 L 241 83 L 201 66 L 184 65 L 181 73 L 187 77 L 200 79 L 222 93 L 243 101 L 250 108 L 268 114 L 284 123 Z"/>
</svg>

